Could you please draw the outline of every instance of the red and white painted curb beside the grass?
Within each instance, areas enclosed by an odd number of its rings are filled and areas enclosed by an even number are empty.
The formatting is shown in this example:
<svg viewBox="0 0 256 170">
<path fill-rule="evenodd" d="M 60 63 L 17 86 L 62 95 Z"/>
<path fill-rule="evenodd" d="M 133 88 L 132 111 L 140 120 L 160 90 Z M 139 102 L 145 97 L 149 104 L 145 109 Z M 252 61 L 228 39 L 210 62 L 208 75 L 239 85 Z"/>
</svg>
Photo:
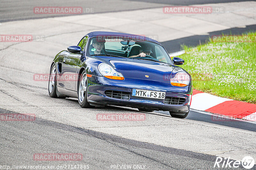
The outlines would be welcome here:
<svg viewBox="0 0 256 170">
<path fill-rule="evenodd" d="M 256 104 L 213 96 L 193 90 L 191 109 L 256 122 Z"/>
</svg>

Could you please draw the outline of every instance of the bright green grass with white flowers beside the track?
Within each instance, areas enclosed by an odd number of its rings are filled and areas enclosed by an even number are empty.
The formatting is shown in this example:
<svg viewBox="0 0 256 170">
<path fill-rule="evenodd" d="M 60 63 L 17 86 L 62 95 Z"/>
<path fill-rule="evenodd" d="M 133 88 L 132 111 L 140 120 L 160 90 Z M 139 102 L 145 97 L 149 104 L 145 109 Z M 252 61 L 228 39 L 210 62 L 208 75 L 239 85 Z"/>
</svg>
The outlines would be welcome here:
<svg viewBox="0 0 256 170">
<path fill-rule="evenodd" d="M 256 36 L 256 32 L 248 33 Z M 181 67 L 192 76 L 193 88 L 216 96 L 256 103 L 256 42 L 213 42 L 183 46 Z"/>
</svg>

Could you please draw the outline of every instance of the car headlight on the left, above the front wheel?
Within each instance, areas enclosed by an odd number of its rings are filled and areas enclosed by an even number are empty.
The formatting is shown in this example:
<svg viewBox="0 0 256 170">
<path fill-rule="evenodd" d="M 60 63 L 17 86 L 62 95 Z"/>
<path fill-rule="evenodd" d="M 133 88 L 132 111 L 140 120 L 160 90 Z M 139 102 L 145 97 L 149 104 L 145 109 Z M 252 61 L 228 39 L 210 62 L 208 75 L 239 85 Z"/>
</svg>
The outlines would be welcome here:
<svg viewBox="0 0 256 170">
<path fill-rule="evenodd" d="M 101 63 L 99 64 L 98 69 L 100 74 L 108 79 L 124 80 L 124 76 L 108 64 Z"/>
</svg>

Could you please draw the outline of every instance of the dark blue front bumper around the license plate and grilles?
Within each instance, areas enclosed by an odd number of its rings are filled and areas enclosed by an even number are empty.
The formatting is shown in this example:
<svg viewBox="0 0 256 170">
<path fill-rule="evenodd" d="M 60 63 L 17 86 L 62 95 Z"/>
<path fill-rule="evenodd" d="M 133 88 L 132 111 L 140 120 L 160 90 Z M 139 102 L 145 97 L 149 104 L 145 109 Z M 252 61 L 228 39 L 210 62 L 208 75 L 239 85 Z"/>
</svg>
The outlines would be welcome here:
<svg viewBox="0 0 256 170">
<path fill-rule="evenodd" d="M 192 87 L 175 87 L 168 82 L 125 78 L 124 80 L 112 80 L 103 76 L 88 77 L 87 100 L 92 105 L 115 105 L 132 108 L 145 108 L 151 110 L 164 110 L 186 113 L 190 108 L 188 95 L 192 95 Z M 181 105 L 165 104 L 164 99 L 151 99 L 132 96 L 132 89 L 144 89 L 165 92 L 165 97 L 185 98 Z M 128 92 L 129 100 L 111 98 L 105 95 L 106 90 Z"/>
</svg>

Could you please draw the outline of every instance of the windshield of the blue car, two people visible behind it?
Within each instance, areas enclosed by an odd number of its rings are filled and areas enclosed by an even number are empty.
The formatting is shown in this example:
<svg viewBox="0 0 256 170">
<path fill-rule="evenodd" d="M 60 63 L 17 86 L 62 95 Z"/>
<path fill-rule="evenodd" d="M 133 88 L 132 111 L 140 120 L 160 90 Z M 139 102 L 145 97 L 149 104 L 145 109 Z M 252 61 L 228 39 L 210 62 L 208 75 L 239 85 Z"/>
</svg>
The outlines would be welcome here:
<svg viewBox="0 0 256 170">
<path fill-rule="evenodd" d="M 129 37 L 93 37 L 87 49 L 87 56 L 90 55 L 125 57 L 172 64 L 170 56 L 161 45 Z"/>
</svg>

